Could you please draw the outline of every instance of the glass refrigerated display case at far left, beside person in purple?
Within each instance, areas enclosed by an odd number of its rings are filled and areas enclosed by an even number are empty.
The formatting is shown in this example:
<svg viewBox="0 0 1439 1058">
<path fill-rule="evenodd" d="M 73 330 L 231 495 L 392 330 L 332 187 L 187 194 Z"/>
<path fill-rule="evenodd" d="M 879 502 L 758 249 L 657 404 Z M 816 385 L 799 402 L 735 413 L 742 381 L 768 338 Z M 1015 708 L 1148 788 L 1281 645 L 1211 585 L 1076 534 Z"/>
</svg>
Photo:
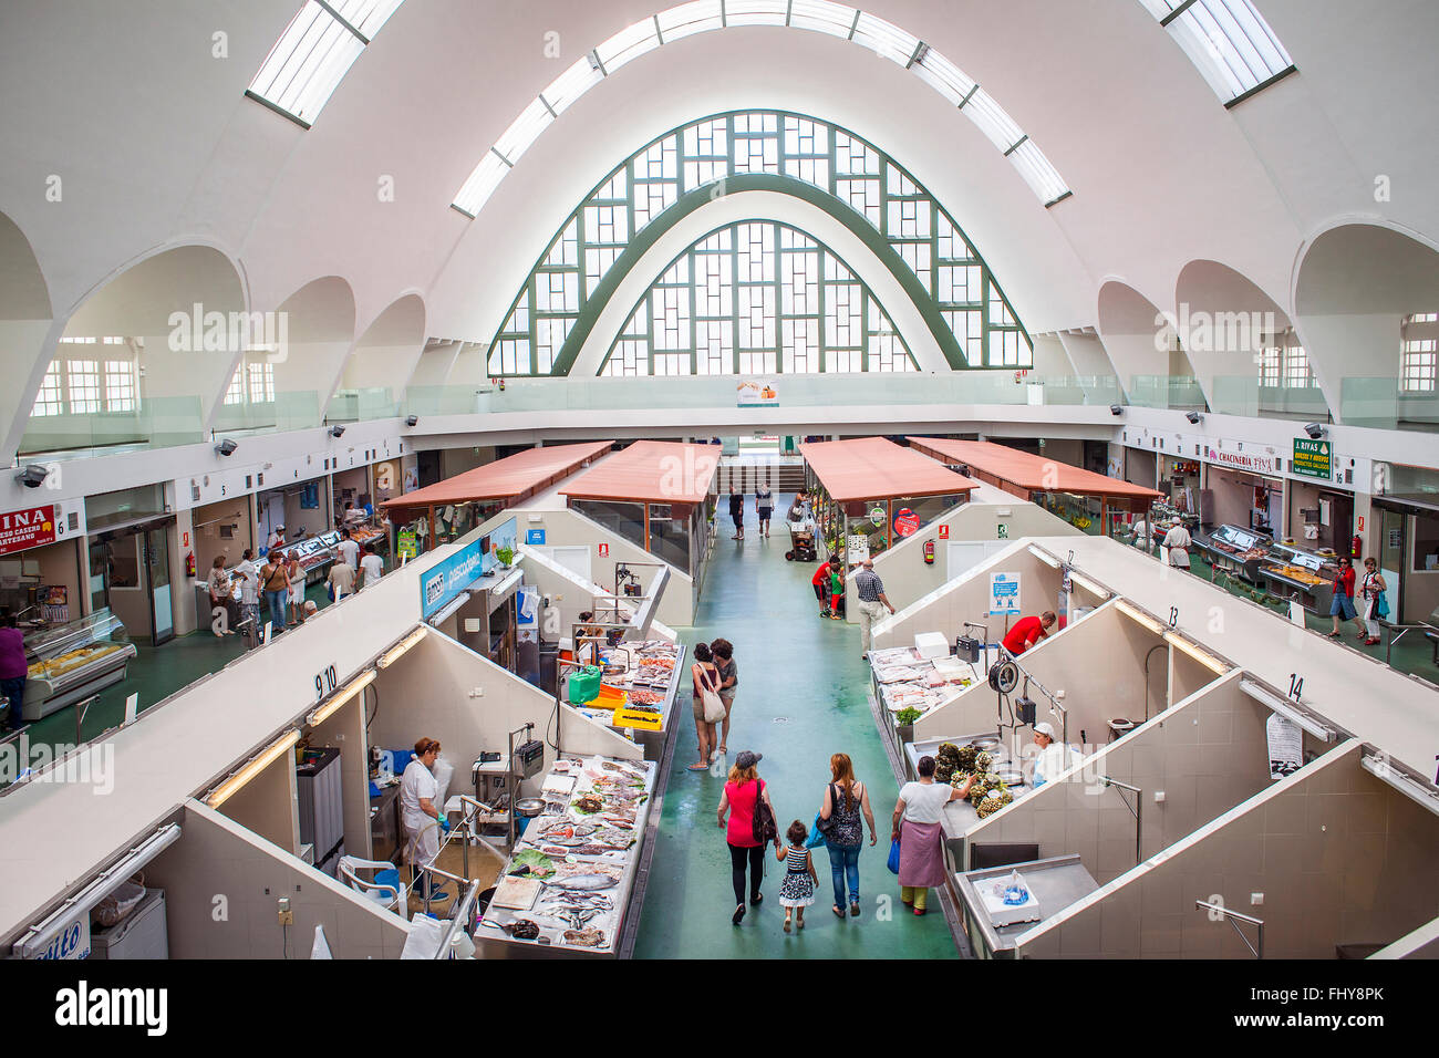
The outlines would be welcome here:
<svg viewBox="0 0 1439 1058">
<path fill-rule="evenodd" d="M 40 720 L 125 678 L 134 643 L 108 609 L 26 636 L 24 718 Z"/>
</svg>

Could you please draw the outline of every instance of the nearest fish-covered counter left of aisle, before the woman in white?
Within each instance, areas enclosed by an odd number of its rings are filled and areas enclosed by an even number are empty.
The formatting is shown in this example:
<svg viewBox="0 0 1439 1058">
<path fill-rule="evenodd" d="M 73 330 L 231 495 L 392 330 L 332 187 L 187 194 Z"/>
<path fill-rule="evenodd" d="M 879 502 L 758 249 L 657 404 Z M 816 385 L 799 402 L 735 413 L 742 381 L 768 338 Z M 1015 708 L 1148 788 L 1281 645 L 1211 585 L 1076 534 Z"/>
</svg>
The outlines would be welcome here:
<svg viewBox="0 0 1439 1058">
<path fill-rule="evenodd" d="M 502 872 L 502 888 L 524 881 L 538 888 L 537 897 L 518 908 L 507 907 L 517 901 L 492 901 L 482 924 L 511 940 L 612 953 L 639 862 L 655 764 L 561 757 L 544 785 L 557 777 L 573 790 L 563 802 L 554 797 L 560 810 L 530 822 Z M 518 914 L 537 924 L 532 936 L 515 928 Z"/>
</svg>

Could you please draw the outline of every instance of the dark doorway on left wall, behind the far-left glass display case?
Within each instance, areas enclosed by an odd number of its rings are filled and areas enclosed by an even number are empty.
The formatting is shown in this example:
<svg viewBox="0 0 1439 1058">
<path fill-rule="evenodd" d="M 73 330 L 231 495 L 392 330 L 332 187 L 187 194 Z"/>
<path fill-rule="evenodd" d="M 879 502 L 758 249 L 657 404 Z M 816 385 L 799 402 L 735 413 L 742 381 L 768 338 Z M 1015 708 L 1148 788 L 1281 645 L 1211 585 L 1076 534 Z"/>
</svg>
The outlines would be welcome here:
<svg viewBox="0 0 1439 1058">
<path fill-rule="evenodd" d="M 173 517 L 98 533 L 89 540 L 91 612 L 109 609 L 131 638 L 151 646 L 176 636 L 171 597 Z"/>
</svg>

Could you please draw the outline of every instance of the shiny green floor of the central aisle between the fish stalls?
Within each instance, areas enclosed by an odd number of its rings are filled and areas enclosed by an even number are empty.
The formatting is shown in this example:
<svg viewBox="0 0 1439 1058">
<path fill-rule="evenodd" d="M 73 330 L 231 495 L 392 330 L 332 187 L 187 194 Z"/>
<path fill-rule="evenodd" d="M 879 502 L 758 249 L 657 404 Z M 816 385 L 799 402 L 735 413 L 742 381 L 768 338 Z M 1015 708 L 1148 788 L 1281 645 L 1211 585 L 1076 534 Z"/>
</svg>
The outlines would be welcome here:
<svg viewBox="0 0 1439 1058">
<path fill-rule="evenodd" d="M 791 497 L 776 497 L 776 515 Z M 724 507 L 724 501 L 721 499 Z M 848 753 L 858 777 L 871 787 L 879 844 L 859 858 L 863 914 L 840 923 L 830 911 L 829 856 L 814 851 L 819 888 L 803 933 L 781 931 L 778 903 L 783 867 L 773 848 L 764 903 L 730 924 L 734 895 L 730 851 L 715 825 L 724 773 L 691 773 L 695 725 L 688 679 L 675 764 L 665 790 L 655 859 L 635 947 L 640 959 L 937 959 L 954 957 L 938 900 L 917 918 L 899 903 L 895 877 L 885 868 L 889 813 L 896 786 L 879 743 L 866 697 L 868 666 L 859 656 L 859 630 L 820 620 L 810 589 L 813 563 L 787 563 L 789 533 L 777 517 L 774 535 L 760 540 L 754 499 L 748 501 L 744 543 L 730 540 L 727 510 L 720 515 L 720 541 L 699 602 L 696 626 L 684 629 L 686 646 L 724 636 L 734 643 L 740 692 L 730 731 L 728 763 L 740 750 L 764 754 L 760 776 L 771 785 L 780 832 L 793 819 L 810 823 L 829 780 L 832 753 Z"/>
</svg>

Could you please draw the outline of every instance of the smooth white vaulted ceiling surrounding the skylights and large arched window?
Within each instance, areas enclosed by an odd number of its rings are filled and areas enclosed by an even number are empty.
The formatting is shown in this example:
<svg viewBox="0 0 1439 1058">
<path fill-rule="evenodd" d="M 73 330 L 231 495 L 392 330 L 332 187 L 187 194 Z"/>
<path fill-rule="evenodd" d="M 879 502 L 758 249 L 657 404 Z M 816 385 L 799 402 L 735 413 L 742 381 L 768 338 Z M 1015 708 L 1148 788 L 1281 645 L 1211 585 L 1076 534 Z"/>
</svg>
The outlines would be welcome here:
<svg viewBox="0 0 1439 1058">
<path fill-rule="evenodd" d="M 163 14 L 12 0 L 0 91 L 26 102 L 0 111 L 0 212 L 62 320 L 151 248 L 207 242 L 239 262 L 250 308 L 334 275 L 361 320 L 417 291 L 432 334 L 488 341 L 543 242 L 627 151 L 707 112 L 784 108 L 902 161 L 984 249 L 1033 331 L 1095 324 L 1105 276 L 1163 305 L 1191 261 L 1225 262 L 1302 328 L 1291 291 L 1307 239 L 1344 220 L 1439 239 L 1427 194 L 1439 143 L 1420 132 L 1439 108 L 1439 4 L 1256 3 L 1299 72 L 1232 109 L 1140 0 L 865 4 L 953 59 L 1043 147 L 1073 190 L 1053 209 L 898 63 L 745 27 L 606 78 L 466 220 L 449 203 L 475 160 L 655 0 L 406 3 L 308 131 L 243 95 L 298 0 Z"/>
</svg>

